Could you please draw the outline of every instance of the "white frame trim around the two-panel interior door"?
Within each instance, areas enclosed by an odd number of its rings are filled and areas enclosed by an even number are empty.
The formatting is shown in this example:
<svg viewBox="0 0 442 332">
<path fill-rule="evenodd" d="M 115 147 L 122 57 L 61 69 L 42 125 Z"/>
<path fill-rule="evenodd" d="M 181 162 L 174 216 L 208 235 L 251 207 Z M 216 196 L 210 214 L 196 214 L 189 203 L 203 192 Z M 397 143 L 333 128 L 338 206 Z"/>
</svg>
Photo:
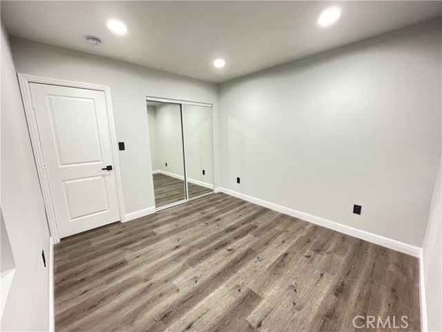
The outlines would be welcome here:
<svg viewBox="0 0 442 332">
<path fill-rule="evenodd" d="M 113 121 L 111 88 L 109 86 L 104 86 L 104 85 L 59 80 L 56 78 L 41 77 L 41 76 L 21 74 L 21 73 L 18 73 L 17 77 L 19 79 L 19 86 L 21 90 L 21 98 L 23 99 L 26 121 L 28 122 L 30 142 L 32 144 L 32 150 L 34 151 L 35 164 L 37 165 L 37 173 L 39 175 L 41 192 L 43 193 L 44 205 L 46 207 L 46 215 L 48 216 L 50 235 L 53 237 L 54 243 L 59 243 L 60 235 L 57 228 L 57 221 L 55 220 L 55 212 L 54 212 L 54 205 L 52 204 L 52 197 L 50 196 L 48 174 L 46 174 L 46 169 L 44 165 L 43 149 L 41 149 L 41 142 L 37 127 L 37 119 L 35 118 L 35 110 L 32 104 L 30 83 L 68 86 L 70 88 L 88 89 L 88 90 L 96 90 L 104 92 L 104 96 L 106 98 L 108 127 L 109 127 L 109 133 L 111 135 L 111 150 L 113 156 L 113 163 L 115 165 L 114 169 L 115 169 L 115 181 L 117 182 L 119 218 L 121 222 L 124 222 L 125 217 L 124 217 L 123 190 L 122 190 L 122 180 L 119 172 L 117 136 L 115 134 L 115 124 Z"/>
</svg>

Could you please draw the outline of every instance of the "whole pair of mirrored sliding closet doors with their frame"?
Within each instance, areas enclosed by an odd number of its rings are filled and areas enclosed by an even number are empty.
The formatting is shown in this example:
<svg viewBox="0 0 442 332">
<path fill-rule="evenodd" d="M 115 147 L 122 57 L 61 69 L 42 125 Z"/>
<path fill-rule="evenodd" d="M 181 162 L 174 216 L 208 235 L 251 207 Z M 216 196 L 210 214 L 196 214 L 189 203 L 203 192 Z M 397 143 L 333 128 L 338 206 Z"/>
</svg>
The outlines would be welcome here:
<svg viewBox="0 0 442 332">
<path fill-rule="evenodd" d="M 147 98 L 155 208 L 213 193 L 211 104 Z"/>
</svg>

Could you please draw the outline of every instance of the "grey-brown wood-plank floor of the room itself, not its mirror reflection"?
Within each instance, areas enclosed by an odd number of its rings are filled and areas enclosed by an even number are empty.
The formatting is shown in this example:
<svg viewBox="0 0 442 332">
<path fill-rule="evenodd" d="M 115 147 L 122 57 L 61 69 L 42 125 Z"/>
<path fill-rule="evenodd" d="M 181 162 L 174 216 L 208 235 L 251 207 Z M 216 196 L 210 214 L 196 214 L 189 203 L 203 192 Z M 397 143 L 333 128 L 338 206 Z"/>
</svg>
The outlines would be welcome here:
<svg viewBox="0 0 442 332">
<path fill-rule="evenodd" d="M 420 331 L 418 270 L 414 257 L 213 194 L 62 239 L 55 328 L 374 331 L 354 316 L 405 315 L 391 331 Z"/>
</svg>

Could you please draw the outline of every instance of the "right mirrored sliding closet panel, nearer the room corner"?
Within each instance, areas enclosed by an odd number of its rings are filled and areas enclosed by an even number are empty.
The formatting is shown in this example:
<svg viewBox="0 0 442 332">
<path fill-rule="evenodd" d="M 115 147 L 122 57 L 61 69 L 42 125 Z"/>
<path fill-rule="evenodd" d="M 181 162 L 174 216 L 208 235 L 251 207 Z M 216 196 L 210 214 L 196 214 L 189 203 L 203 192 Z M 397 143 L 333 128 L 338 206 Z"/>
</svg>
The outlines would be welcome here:
<svg viewBox="0 0 442 332">
<path fill-rule="evenodd" d="M 213 192 L 211 107 L 184 105 L 184 147 L 189 198 Z"/>
</svg>

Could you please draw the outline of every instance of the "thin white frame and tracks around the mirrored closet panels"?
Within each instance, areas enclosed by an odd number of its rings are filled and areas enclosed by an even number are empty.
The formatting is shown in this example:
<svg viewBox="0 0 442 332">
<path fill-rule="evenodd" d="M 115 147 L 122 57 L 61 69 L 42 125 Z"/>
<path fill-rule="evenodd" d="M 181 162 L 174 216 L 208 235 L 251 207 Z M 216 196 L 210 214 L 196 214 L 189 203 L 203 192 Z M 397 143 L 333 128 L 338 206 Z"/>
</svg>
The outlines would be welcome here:
<svg viewBox="0 0 442 332">
<path fill-rule="evenodd" d="M 213 149 L 213 104 L 208 104 L 205 102 L 191 102 L 189 100 L 177 100 L 177 99 L 168 99 L 168 98 L 158 98 L 158 97 L 151 97 L 146 96 L 146 102 L 166 102 L 169 104 L 179 104 L 180 105 L 180 117 L 181 117 L 181 135 L 182 135 L 182 154 L 183 154 L 183 162 L 184 162 L 184 188 L 186 192 L 186 198 L 184 201 L 178 201 L 175 203 L 171 203 L 168 205 L 164 205 L 160 208 L 155 207 L 155 211 L 164 210 L 166 208 L 171 208 L 172 206 L 179 205 L 182 203 L 186 203 L 189 201 L 193 201 L 194 199 L 200 199 L 204 196 L 209 196 L 211 194 L 215 193 L 215 153 Z M 185 133 L 184 133 L 184 105 L 193 105 L 193 106 L 201 106 L 201 107 L 207 107 L 210 108 L 210 116 L 211 116 L 211 147 L 212 147 L 212 183 L 213 183 L 213 190 L 212 192 L 208 192 L 207 194 L 202 194 L 200 196 L 195 196 L 189 199 L 189 182 L 187 181 L 187 164 L 186 164 L 186 144 L 185 144 Z M 154 192 L 155 194 L 155 192 Z"/>
</svg>

